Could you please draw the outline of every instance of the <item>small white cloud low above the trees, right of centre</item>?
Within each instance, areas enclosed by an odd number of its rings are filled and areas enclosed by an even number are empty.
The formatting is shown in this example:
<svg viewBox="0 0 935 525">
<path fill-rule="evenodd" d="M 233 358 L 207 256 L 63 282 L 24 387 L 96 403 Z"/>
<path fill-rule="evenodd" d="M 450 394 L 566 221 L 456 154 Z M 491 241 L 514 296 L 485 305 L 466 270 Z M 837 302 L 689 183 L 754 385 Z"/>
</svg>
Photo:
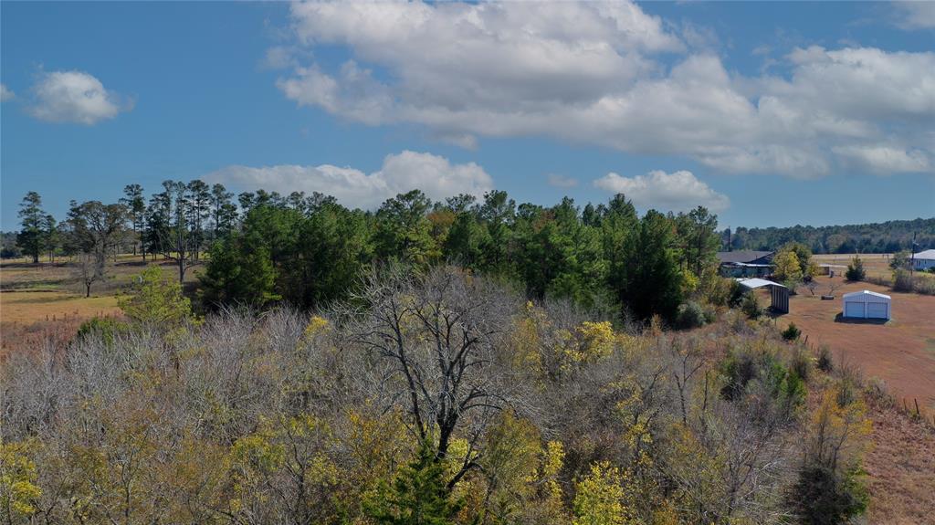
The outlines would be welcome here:
<svg viewBox="0 0 935 525">
<path fill-rule="evenodd" d="M 705 206 L 712 211 L 723 211 L 730 199 L 712 190 L 690 171 L 666 173 L 654 170 L 646 175 L 622 177 L 609 173 L 594 181 L 601 190 L 623 193 L 637 206 L 671 211 L 686 211 Z"/>
</svg>

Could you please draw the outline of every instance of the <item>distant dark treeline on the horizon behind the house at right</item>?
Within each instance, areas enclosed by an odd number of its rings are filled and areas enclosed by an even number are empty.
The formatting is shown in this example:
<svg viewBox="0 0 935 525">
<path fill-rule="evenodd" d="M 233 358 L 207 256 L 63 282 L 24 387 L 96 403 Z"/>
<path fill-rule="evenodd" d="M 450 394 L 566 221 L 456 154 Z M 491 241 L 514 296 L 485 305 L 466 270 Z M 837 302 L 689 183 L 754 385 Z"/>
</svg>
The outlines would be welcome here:
<svg viewBox="0 0 935 525">
<path fill-rule="evenodd" d="M 730 248 L 772 250 L 789 242 L 799 242 L 813 253 L 895 253 L 912 250 L 913 234 L 916 251 L 935 248 L 935 218 L 887 220 L 871 224 L 844 226 L 801 226 L 788 228 L 727 228 L 722 232 L 724 246 Z"/>
</svg>

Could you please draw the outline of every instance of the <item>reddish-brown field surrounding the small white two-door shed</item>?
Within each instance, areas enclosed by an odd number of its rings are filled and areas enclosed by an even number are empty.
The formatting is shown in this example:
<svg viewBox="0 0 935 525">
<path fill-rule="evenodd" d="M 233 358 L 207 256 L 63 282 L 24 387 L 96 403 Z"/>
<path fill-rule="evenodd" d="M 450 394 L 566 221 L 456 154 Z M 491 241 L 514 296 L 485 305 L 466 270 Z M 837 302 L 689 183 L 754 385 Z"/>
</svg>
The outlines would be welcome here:
<svg viewBox="0 0 935 525">
<path fill-rule="evenodd" d="M 899 399 L 935 413 L 935 296 L 890 291 L 866 282 L 847 282 L 842 277 L 816 277 L 816 296 L 799 289 L 789 300 L 789 313 L 777 325 L 795 321 L 811 346 L 827 345 L 835 357 L 858 365 L 865 376 L 883 379 Z M 833 301 L 818 296 L 827 284 L 836 282 Z M 885 324 L 840 322 L 841 296 L 850 291 L 870 290 L 893 298 L 892 319 Z"/>
</svg>

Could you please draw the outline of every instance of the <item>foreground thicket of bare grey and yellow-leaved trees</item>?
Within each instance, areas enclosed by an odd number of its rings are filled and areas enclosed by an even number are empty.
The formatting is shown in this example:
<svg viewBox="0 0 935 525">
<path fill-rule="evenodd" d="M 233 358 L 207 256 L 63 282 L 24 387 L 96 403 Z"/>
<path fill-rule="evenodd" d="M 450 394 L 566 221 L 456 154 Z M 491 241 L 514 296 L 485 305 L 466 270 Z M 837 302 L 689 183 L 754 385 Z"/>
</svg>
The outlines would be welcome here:
<svg viewBox="0 0 935 525">
<path fill-rule="evenodd" d="M 122 307 L 7 356 L 7 522 L 841 523 L 867 504 L 853 372 L 739 312 L 615 330 L 445 265 L 368 274 L 311 316 L 205 319 L 152 266 Z"/>
</svg>

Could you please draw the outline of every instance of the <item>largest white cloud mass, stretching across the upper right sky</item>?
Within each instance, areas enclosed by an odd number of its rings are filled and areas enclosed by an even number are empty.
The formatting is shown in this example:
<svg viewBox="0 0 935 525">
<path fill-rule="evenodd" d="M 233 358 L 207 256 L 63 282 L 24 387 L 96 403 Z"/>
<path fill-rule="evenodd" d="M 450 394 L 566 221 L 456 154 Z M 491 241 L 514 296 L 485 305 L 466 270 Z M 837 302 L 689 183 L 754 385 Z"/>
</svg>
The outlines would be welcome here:
<svg viewBox="0 0 935 525">
<path fill-rule="evenodd" d="M 935 52 L 810 47 L 782 59 L 784 75 L 744 77 L 712 52 L 716 35 L 676 33 L 627 1 L 315 2 L 292 21 L 296 46 L 351 59 L 295 65 L 278 81 L 287 98 L 471 149 L 549 136 L 802 178 L 866 168 L 842 153 L 856 147 L 935 155 Z"/>
</svg>

